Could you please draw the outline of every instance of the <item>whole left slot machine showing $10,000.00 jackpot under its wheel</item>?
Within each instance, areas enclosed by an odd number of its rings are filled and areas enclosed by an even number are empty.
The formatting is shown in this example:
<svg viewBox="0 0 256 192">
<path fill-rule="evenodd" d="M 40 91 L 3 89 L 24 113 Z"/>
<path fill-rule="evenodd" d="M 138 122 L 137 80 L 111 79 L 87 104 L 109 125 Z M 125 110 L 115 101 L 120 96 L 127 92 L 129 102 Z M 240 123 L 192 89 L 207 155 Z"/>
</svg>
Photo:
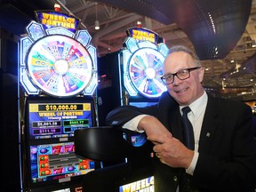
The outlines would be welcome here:
<svg viewBox="0 0 256 192">
<path fill-rule="evenodd" d="M 97 53 L 80 20 L 36 11 L 20 38 L 23 191 L 82 191 L 98 162 L 75 154 L 74 132 L 97 125 Z"/>
</svg>

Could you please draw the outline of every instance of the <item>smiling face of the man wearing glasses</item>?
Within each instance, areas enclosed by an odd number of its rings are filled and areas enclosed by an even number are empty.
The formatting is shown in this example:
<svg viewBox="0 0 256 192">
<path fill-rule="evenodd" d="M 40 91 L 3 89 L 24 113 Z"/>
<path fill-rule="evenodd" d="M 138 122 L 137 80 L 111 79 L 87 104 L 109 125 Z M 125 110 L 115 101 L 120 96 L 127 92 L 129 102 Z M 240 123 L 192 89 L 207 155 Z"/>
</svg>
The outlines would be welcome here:
<svg viewBox="0 0 256 192">
<path fill-rule="evenodd" d="M 164 76 L 175 74 L 183 68 L 195 68 L 196 61 L 187 52 L 172 52 L 164 60 Z M 189 105 L 204 93 L 201 84 L 204 78 L 204 68 L 190 71 L 190 77 L 180 80 L 174 76 L 172 84 L 167 84 L 168 92 L 180 105 Z"/>
</svg>

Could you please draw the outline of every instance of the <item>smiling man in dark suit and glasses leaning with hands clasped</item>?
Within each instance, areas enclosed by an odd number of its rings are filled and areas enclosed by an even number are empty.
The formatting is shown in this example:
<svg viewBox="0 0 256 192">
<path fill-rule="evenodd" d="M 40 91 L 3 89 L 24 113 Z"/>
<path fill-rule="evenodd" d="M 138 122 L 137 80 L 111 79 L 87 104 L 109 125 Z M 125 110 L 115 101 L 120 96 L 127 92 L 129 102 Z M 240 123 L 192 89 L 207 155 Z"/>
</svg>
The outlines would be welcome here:
<svg viewBox="0 0 256 192">
<path fill-rule="evenodd" d="M 156 163 L 156 192 L 254 191 L 252 109 L 242 102 L 213 98 L 204 91 L 203 78 L 204 68 L 196 53 L 173 46 L 164 60 L 162 76 L 168 92 L 162 94 L 158 104 L 116 108 L 106 122 L 146 132 L 160 160 Z M 191 109 L 192 149 L 185 145 L 181 121 L 184 107 Z M 183 188 L 186 178 L 188 189 Z"/>
</svg>

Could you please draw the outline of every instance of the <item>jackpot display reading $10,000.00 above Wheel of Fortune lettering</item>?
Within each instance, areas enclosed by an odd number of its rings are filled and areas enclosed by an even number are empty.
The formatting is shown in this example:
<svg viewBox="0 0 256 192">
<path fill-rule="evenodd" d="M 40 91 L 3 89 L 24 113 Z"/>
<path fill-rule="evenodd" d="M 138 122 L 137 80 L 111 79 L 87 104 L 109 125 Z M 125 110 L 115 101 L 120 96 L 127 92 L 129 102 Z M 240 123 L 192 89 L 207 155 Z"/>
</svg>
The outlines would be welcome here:
<svg viewBox="0 0 256 192">
<path fill-rule="evenodd" d="M 92 104 L 30 103 L 29 135 L 31 140 L 73 137 L 77 129 L 92 127 Z"/>
</svg>

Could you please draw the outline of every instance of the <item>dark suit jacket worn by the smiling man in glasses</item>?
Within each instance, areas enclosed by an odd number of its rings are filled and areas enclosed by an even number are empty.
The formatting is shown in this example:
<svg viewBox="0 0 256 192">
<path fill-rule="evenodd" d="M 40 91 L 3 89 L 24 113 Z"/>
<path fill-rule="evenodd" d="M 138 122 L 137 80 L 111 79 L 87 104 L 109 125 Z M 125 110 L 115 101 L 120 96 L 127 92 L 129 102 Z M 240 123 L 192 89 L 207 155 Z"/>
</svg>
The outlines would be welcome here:
<svg viewBox="0 0 256 192">
<path fill-rule="evenodd" d="M 140 114 L 156 116 L 183 142 L 179 105 L 168 92 L 162 94 L 155 106 L 116 108 L 108 114 L 106 123 L 121 126 Z M 254 191 L 255 142 L 252 109 L 243 102 L 208 95 L 192 184 L 200 191 Z M 159 162 L 156 164 L 156 192 L 175 191 L 180 169 Z"/>
</svg>

